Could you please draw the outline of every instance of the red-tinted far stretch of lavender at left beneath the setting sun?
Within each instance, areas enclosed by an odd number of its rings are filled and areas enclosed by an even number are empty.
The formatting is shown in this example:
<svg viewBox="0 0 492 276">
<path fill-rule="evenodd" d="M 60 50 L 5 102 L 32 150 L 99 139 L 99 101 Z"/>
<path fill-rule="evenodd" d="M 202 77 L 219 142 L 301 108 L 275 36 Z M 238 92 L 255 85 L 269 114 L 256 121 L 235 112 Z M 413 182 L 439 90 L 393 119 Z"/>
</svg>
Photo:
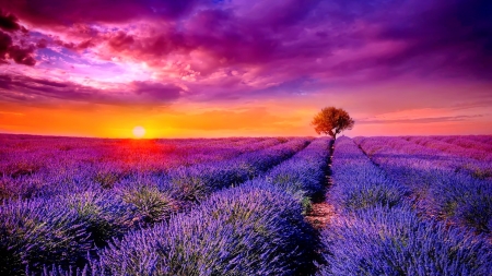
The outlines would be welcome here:
<svg viewBox="0 0 492 276">
<path fill-rule="evenodd" d="M 221 161 L 263 149 L 286 139 L 101 140 L 0 135 L 0 199 L 105 188 L 132 175 L 165 176 L 169 170 Z"/>
</svg>

